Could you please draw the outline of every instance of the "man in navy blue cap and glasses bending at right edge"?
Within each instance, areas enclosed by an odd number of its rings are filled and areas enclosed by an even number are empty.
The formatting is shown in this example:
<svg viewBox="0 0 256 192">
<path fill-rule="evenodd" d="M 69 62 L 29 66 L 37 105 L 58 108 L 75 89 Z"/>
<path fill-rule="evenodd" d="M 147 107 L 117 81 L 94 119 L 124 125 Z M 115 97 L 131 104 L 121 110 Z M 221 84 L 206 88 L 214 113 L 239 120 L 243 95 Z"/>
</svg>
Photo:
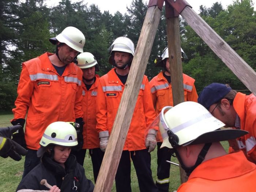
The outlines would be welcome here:
<svg viewBox="0 0 256 192">
<path fill-rule="evenodd" d="M 230 143 L 230 151 L 242 150 L 249 161 L 256 163 L 256 97 L 245 95 L 231 87 L 212 83 L 204 87 L 198 102 L 223 123 L 224 127 L 233 127 L 248 131 L 249 134 Z"/>
</svg>

